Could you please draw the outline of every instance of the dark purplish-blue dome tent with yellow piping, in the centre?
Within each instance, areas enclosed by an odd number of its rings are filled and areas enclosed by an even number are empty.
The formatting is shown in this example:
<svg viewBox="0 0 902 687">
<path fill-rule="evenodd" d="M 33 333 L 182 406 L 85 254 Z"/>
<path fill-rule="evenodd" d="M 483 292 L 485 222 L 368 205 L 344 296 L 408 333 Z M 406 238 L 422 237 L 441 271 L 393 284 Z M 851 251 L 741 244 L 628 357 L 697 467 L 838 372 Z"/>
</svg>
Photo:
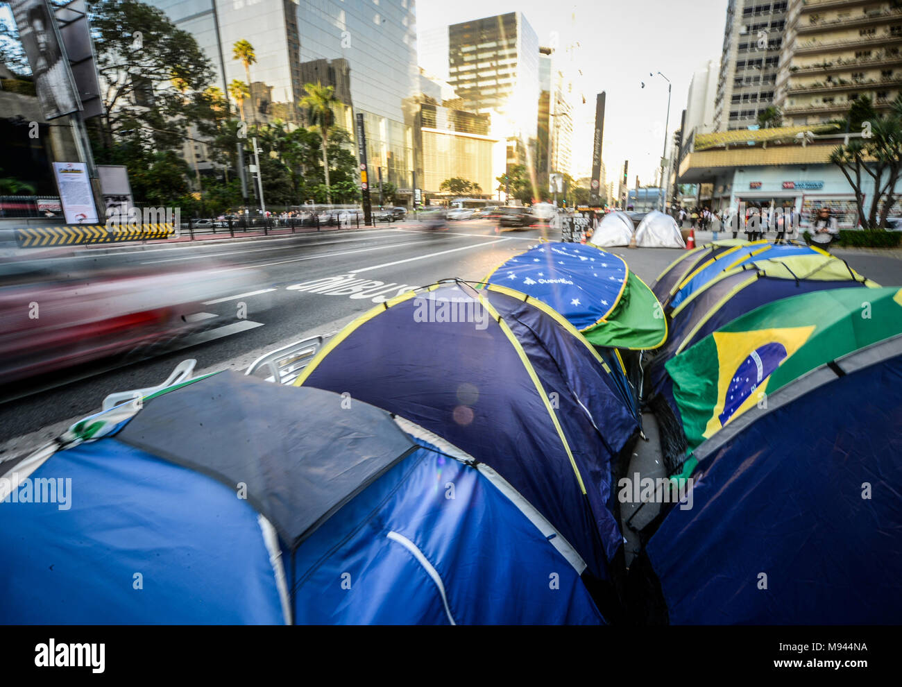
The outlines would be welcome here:
<svg viewBox="0 0 902 687">
<path fill-rule="evenodd" d="M 407 417 L 488 463 L 608 579 L 622 545 L 612 473 L 638 429 L 620 374 L 546 304 L 450 281 L 359 317 L 297 383 Z"/>
</svg>

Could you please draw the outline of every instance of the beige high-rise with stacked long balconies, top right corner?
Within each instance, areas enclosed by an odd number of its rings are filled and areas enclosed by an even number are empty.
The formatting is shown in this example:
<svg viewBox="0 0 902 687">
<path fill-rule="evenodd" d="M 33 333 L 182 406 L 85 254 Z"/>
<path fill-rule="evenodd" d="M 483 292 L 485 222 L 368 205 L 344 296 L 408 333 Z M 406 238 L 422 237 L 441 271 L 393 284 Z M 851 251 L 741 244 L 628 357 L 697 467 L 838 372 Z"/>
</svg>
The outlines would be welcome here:
<svg viewBox="0 0 902 687">
<path fill-rule="evenodd" d="M 900 89 L 897 2 L 790 0 L 776 96 L 785 124 L 840 118 L 858 97 L 886 110 Z"/>
</svg>

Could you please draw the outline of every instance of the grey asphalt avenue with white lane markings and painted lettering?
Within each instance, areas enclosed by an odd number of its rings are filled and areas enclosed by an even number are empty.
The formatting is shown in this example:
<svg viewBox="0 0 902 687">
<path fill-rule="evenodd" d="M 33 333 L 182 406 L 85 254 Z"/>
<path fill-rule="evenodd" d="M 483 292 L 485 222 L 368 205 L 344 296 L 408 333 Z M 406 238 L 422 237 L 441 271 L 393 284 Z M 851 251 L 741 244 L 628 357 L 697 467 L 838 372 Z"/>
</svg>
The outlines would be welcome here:
<svg viewBox="0 0 902 687">
<path fill-rule="evenodd" d="M 334 333 L 374 304 L 411 287 L 452 277 L 482 279 L 543 236 L 558 238 L 548 228 L 499 234 L 494 224 L 476 220 L 452 223 L 442 232 L 400 224 L 241 242 L 157 243 L 74 252 L 64 260 L 82 267 L 192 264 L 249 270 L 255 287 L 205 303 L 198 317 L 207 321 L 207 332 L 182 342 L 177 351 L 139 362 L 107 361 L 7 389 L 7 400 L 0 399 L 0 457 L 27 450 L 65 424 L 96 412 L 110 393 L 159 384 L 186 358 L 198 361 L 198 372 L 244 370 L 262 353 L 310 335 Z M 678 257 L 670 249 L 613 252 L 624 256 L 649 285 Z M 842 252 L 842 257 L 880 284 L 902 285 L 902 261 L 897 257 L 865 252 Z M 342 288 L 341 278 L 366 281 Z M 239 308 L 244 308 L 243 317 Z M 402 353 L 405 343 L 398 345 Z"/>
</svg>

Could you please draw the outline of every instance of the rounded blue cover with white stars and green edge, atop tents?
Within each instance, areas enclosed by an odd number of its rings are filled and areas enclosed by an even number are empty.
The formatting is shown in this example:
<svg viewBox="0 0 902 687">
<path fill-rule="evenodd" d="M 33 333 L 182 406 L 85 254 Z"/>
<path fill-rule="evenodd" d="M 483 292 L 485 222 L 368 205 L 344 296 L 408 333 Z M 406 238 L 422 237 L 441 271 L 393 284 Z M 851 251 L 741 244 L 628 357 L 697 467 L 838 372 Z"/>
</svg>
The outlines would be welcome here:
<svg viewBox="0 0 902 687">
<path fill-rule="evenodd" d="M 540 243 L 485 279 L 538 298 L 596 346 L 646 350 L 664 344 L 658 299 L 619 255 L 594 245 Z"/>
</svg>

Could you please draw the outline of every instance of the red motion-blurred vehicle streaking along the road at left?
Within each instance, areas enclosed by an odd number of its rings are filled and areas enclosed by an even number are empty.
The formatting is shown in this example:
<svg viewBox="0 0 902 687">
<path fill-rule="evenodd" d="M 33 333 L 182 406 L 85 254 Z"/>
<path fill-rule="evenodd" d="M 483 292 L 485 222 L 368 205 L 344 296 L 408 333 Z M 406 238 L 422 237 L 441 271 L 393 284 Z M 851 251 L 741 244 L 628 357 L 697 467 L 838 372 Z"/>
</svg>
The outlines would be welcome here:
<svg viewBox="0 0 902 687">
<path fill-rule="evenodd" d="M 93 269 L 0 261 L 0 386 L 118 353 L 145 355 L 206 328 L 205 301 L 259 284 L 213 266 Z M 221 322 L 220 322 L 221 324 Z"/>
</svg>

